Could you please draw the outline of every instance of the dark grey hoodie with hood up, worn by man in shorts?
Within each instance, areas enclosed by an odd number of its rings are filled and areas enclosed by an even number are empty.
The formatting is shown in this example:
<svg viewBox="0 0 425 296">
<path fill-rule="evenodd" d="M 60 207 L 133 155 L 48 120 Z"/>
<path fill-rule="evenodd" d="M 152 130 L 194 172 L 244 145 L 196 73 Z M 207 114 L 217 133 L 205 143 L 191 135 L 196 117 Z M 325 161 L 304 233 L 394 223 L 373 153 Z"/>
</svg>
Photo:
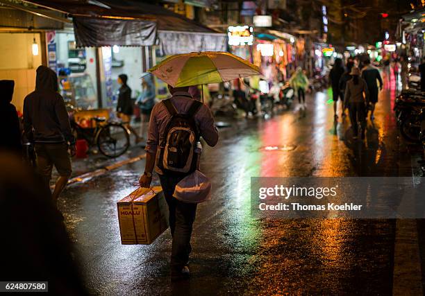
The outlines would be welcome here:
<svg viewBox="0 0 425 296">
<path fill-rule="evenodd" d="M 48 67 L 38 67 L 35 91 L 24 100 L 24 131 L 35 143 L 75 141 L 65 103 L 58 94 L 58 78 Z"/>
</svg>

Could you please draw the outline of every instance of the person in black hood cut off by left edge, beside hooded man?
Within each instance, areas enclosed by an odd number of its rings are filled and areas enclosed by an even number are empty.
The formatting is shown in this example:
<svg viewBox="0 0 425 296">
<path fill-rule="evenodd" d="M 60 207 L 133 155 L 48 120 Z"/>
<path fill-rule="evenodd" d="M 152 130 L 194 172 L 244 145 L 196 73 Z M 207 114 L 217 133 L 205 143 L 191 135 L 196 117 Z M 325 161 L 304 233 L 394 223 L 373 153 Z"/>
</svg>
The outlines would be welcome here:
<svg viewBox="0 0 425 296">
<path fill-rule="evenodd" d="M 7 150 L 21 154 L 21 130 L 19 118 L 12 101 L 13 80 L 0 80 L 0 125 L 3 127 L 0 134 L 0 150 Z"/>
</svg>

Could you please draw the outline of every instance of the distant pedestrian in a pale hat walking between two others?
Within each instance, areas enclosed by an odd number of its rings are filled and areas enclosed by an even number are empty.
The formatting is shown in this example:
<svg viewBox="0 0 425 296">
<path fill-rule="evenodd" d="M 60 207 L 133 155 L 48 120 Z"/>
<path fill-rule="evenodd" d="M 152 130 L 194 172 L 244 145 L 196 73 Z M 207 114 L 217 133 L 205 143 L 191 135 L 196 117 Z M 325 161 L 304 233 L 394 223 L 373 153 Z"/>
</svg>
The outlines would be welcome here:
<svg viewBox="0 0 425 296">
<path fill-rule="evenodd" d="M 358 137 L 358 122 L 360 121 L 361 137 L 365 139 L 366 129 L 366 102 L 369 98 L 367 84 L 360 78 L 360 69 L 353 67 L 350 75 L 351 80 L 347 82 L 344 100 L 349 105 L 351 127 L 353 128 L 353 139 Z"/>
</svg>

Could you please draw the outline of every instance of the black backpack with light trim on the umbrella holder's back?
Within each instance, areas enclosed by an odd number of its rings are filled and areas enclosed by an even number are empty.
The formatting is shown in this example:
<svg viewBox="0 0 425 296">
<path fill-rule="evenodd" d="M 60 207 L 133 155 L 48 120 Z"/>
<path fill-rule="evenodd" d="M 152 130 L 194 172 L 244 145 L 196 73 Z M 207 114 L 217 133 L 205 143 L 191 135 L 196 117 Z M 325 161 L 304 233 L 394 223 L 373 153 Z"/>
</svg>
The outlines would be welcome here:
<svg viewBox="0 0 425 296">
<path fill-rule="evenodd" d="M 194 121 L 202 103 L 193 100 L 186 114 L 179 114 L 170 99 L 163 104 L 171 116 L 160 143 L 158 168 L 166 174 L 188 175 L 197 169 L 195 148 L 199 141 L 199 129 Z"/>
</svg>

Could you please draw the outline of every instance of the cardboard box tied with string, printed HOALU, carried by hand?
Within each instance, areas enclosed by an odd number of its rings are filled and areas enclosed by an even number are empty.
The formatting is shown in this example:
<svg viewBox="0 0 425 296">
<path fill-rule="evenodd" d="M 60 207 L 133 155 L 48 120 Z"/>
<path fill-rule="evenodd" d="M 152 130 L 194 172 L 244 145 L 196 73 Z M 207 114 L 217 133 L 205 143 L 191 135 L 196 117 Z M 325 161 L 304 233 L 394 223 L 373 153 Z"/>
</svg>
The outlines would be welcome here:
<svg viewBox="0 0 425 296">
<path fill-rule="evenodd" d="M 123 245 L 149 245 L 168 228 L 168 208 L 160 186 L 139 188 L 117 202 Z"/>
</svg>

